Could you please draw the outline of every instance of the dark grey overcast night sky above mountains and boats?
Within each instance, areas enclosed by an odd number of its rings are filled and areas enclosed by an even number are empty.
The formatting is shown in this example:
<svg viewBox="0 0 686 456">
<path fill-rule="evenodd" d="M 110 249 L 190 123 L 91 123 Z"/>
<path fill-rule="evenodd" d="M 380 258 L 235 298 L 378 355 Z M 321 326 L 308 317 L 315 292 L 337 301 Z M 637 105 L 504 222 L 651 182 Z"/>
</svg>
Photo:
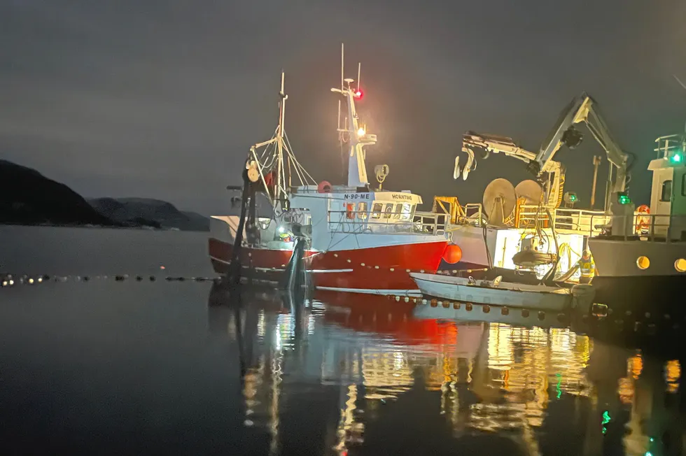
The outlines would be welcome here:
<svg viewBox="0 0 686 456">
<path fill-rule="evenodd" d="M 360 117 L 384 187 L 480 202 L 486 184 L 528 178 L 491 157 L 452 179 L 466 130 L 529 150 L 589 92 L 638 155 L 631 196 L 647 202 L 654 138 L 683 130 L 686 2 L 678 0 L 182 1 L 0 0 L 0 157 L 85 197 L 153 197 L 222 213 L 251 144 L 286 131 L 317 180 L 342 181 L 340 43 L 362 62 Z M 581 127 L 584 133 L 587 130 Z M 566 190 L 589 201 L 602 153 L 589 133 L 557 158 Z M 463 154 L 461 156 L 464 157 Z M 606 162 L 598 196 L 604 188 Z"/>
</svg>

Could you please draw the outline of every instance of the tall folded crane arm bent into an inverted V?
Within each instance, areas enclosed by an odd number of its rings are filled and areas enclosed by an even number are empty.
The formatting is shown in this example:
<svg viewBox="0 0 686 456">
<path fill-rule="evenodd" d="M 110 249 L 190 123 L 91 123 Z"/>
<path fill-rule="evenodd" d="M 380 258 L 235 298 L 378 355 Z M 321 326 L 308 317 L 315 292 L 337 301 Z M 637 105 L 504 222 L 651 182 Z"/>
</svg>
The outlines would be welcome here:
<svg viewBox="0 0 686 456">
<path fill-rule="evenodd" d="M 582 141 L 582 134 L 574 128 L 574 124 L 584 122 L 593 137 L 598 141 L 608 156 L 608 161 L 617 168 L 617 178 L 613 192 L 624 192 L 627 181 L 628 156 L 619 148 L 612 138 L 608 125 L 603 120 L 595 101 L 584 92 L 580 97 L 575 97 L 564 108 L 546 141 L 540 147 L 535 162 L 545 168 L 547 162 L 553 159 L 561 146 L 567 145 L 573 149 Z"/>
</svg>

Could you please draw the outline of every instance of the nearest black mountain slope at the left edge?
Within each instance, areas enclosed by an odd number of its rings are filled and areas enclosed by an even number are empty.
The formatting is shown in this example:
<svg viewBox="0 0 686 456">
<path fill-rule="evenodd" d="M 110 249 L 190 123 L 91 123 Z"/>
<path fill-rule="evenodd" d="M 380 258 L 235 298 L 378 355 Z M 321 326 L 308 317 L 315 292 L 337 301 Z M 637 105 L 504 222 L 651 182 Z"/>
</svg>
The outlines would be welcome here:
<svg viewBox="0 0 686 456">
<path fill-rule="evenodd" d="M 122 226 L 35 169 L 0 159 L 0 223 Z"/>
</svg>

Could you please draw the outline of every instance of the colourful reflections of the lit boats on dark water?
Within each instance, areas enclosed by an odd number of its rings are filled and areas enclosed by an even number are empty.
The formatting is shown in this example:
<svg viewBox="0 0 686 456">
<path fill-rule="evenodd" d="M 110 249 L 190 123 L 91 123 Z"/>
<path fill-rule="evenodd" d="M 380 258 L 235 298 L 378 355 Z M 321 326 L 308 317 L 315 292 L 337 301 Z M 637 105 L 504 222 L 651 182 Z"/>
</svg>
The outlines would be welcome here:
<svg viewBox="0 0 686 456">
<path fill-rule="evenodd" d="M 210 307 L 210 327 L 242 335 L 244 425 L 271 454 L 284 432 L 338 455 L 682 454 L 679 359 L 566 328 L 419 320 L 382 297 L 243 302 Z M 303 404 L 310 427 L 289 421 Z"/>
</svg>

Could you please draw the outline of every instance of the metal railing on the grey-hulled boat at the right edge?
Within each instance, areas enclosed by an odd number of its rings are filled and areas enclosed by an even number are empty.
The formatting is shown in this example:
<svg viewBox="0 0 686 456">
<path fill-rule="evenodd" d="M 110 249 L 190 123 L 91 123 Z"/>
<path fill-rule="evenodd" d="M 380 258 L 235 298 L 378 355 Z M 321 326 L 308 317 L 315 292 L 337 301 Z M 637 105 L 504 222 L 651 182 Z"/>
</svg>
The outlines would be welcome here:
<svg viewBox="0 0 686 456">
<path fill-rule="evenodd" d="M 591 227 L 600 229 L 602 234 L 611 234 L 610 225 L 613 223 L 623 224 L 628 222 L 631 224 L 630 230 L 626 230 L 623 236 L 624 241 L 635 240 L 639 238 L 641 241 L 670 243 L 684 241 L 684 234 L 686 234 L 686 215 L 667 215 L 667 214 L 645 214 L 634 213 L 633 215 L 615 215 L 608 217 L 592 218 Z M 591 234 L 588 231 L 587 234 Z M 616 238 L 616 237 L 615 237 Z"/>
</svg>

